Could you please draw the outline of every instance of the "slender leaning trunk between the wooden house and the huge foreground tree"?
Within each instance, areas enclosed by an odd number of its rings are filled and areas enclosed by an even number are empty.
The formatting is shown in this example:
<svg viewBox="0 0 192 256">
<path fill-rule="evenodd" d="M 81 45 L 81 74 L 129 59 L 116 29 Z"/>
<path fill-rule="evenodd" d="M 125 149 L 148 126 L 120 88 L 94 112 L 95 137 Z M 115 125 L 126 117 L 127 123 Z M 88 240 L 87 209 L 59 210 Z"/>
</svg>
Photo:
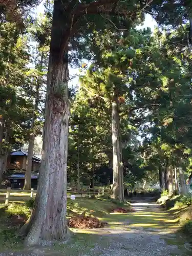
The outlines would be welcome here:
<svg viewBox="0 0 192 256">
<path fill-rule="evenodd" d="M 40 63 L 41 68 L 42 68 L 42 61 L 43 61 L 43 58 L 41 55 L 41 63 Z M 34 140 L 35 140 L 35 121 L 37 118 L 36 112 L 38 110 L 38 104 L 39 104 L 39 88 L 40 88 L 40 85 L 39 85 L 39 82 L 37 81 L 34 113 L 33 113 L 33 118 L 31 122 L 31 132 L 29 135 L 29 147 L 28 147 L 28 156 L 27 156 L 27 162 L 26 162 L 24 189 L 31 189 L 31 170 L 32 170 L 33 148 L 34 148 Z"/>
</svg>

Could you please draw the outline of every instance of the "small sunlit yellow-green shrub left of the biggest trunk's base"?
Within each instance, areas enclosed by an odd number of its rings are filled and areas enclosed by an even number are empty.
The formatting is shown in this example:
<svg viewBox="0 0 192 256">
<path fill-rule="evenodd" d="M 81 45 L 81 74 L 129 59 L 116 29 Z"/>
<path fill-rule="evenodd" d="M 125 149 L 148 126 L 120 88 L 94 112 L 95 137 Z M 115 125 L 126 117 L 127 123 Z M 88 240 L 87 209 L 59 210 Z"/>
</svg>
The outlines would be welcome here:
<svg viewBox="0 0 192 256">
<path fill-rule="evenodd" d="M 23 216 L 29 218 L 31 215 L 31 209 L 28 208 L 25 204 L 12 203 L 7 207 L 5 212 L 8 217 Z"/>
</svg>

